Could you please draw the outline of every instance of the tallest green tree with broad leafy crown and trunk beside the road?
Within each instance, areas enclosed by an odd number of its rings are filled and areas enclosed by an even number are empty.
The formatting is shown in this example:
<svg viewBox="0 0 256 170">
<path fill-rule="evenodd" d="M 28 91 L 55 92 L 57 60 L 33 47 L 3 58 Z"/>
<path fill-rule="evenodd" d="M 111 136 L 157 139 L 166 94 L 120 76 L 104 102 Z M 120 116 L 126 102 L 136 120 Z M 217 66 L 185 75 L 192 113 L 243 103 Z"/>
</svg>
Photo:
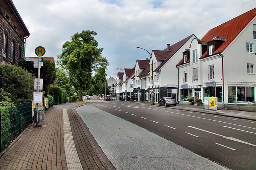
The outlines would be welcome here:
<svg viewBox="0 0 256 170">
<path fill-rule="evenodd" d="M 78 89 L 79 101 L 82 100 L 83 90 L 90 89 L 92 72 L 97 68 L 106 68 L 108 61 L 102 57 L 103 48 L 98 48 L 94 39 L 95 31 L 75 33 L 70 41 L 62 46 L 62 54 L 58 56 L 60 64 L 68 70 L 70 82 Z"/>
</svg>

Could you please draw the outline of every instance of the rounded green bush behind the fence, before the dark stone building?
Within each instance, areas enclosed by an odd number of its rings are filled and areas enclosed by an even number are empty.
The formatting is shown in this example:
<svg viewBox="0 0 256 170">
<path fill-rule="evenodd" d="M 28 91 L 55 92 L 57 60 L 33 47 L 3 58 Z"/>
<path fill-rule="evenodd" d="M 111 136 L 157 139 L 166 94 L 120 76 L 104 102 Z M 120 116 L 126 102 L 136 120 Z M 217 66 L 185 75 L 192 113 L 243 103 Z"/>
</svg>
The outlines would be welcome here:
<svg viewBox="0 0 256 170">
<path fill-rule="evenodd" d="M 14 104 L 28 102 L 33 97 L 34 76 L 21 67 L 11 64 L 0 65 L 0 88 L 11 94 Z"/>
</svg>

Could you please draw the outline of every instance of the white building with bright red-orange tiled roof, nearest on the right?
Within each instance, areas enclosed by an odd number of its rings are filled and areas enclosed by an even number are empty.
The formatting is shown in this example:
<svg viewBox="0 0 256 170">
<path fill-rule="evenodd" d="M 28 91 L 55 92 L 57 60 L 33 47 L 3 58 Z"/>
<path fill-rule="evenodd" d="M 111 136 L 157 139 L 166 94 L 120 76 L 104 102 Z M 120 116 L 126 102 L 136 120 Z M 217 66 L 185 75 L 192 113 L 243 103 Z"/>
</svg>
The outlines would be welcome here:
<svg viewBox="0 0 256 170">
<path fill-rule="evenodd" d="M 176 64 L 180 102 L 216 97 L 218 107 L 254 101 L 256 8 L 193 39 Z"/>
</svg>

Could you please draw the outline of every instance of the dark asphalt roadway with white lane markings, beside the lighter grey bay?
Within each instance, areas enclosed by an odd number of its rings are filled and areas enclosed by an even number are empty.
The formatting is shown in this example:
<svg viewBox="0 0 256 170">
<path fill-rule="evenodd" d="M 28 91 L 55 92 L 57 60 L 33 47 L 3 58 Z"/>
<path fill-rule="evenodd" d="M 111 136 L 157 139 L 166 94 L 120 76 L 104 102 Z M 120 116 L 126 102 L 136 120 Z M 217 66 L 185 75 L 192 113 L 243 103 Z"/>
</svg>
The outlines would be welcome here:
<svg viewBox="0 0 256 170">
<path fill-rule="evenodd" d="M 159 107 L 135 104 L 132 102 L 105 102 L 94 98 L 88 101 L 88 105 L 127 120 L 230 169 L 255 169 L 256 167 L 255 121 L 202 114 L 193 111 L 182 111 L 172 106 Z M 81 107 L 80 109 L 84 108 Z M 81 111 L 82 110 L 78 111 L 78 113 Z M 90 118 L 90 121 L 94 118 L 95 115 Z M 105 121 L 112 122 L 109 117 L 108 120 Z M 89 122 L 85 121 L 85 123 L 88 126 Z M 115 122 L 112 122 L 112 124 L 113 123 Z M 91 131 L 91 129 L 89 125 L 89 130 Z M 104 128 L 102 131 L 104 131 Z M 112 131 L 114 132 L 115 130 L 112 129 Z M 114 134 L 108 133 L 108 135 Z M 104 143 L 104 141 L 97 142 Z M 123 141 L 123 143 L 126 142 L 127 141 Z M 156 146 L 153 148 L 156 148 Z M 108 148 L 108 150 L 112 148 L 113 147 Z M 127 150 L 128 148 L 120 147 L 120 149 L 115 150 L 115 152 L 126 153 L 124 149 Z M 113 160 L 116 160 L 116 158 L 113 158 Z M 186 168 L 178 165 L 176 168 L 191 169 L 189 164 L 185 167 Z M 204 169 L 208 168 L 205 167 Z"/>
</svg>

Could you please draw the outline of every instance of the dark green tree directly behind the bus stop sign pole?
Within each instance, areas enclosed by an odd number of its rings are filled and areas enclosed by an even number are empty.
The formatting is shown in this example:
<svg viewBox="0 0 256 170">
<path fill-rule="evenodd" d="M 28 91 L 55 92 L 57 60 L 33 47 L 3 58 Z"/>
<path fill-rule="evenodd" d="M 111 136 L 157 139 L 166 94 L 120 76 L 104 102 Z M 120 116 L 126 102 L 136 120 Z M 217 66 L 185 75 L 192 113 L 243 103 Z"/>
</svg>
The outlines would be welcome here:
<svg viewBox="0 0 256 170">
<path fill-rule="evenodd" d="M 40 78 L 43 79 L 43 90 L 45 91 L 44 96 L 47 96 L 50 84 L 53 84 L 56 78 L 56 68 L 55 64 L 49 60 L 43 60 L 43 63 L 43 66 L 40 68 Z M 34 76 L 37 78 L 38 69 L 34 68 L 33 62 L 21 59 L 18 65 L 28 70 L 28 72 L 34 74 Z"/>
</svg>

